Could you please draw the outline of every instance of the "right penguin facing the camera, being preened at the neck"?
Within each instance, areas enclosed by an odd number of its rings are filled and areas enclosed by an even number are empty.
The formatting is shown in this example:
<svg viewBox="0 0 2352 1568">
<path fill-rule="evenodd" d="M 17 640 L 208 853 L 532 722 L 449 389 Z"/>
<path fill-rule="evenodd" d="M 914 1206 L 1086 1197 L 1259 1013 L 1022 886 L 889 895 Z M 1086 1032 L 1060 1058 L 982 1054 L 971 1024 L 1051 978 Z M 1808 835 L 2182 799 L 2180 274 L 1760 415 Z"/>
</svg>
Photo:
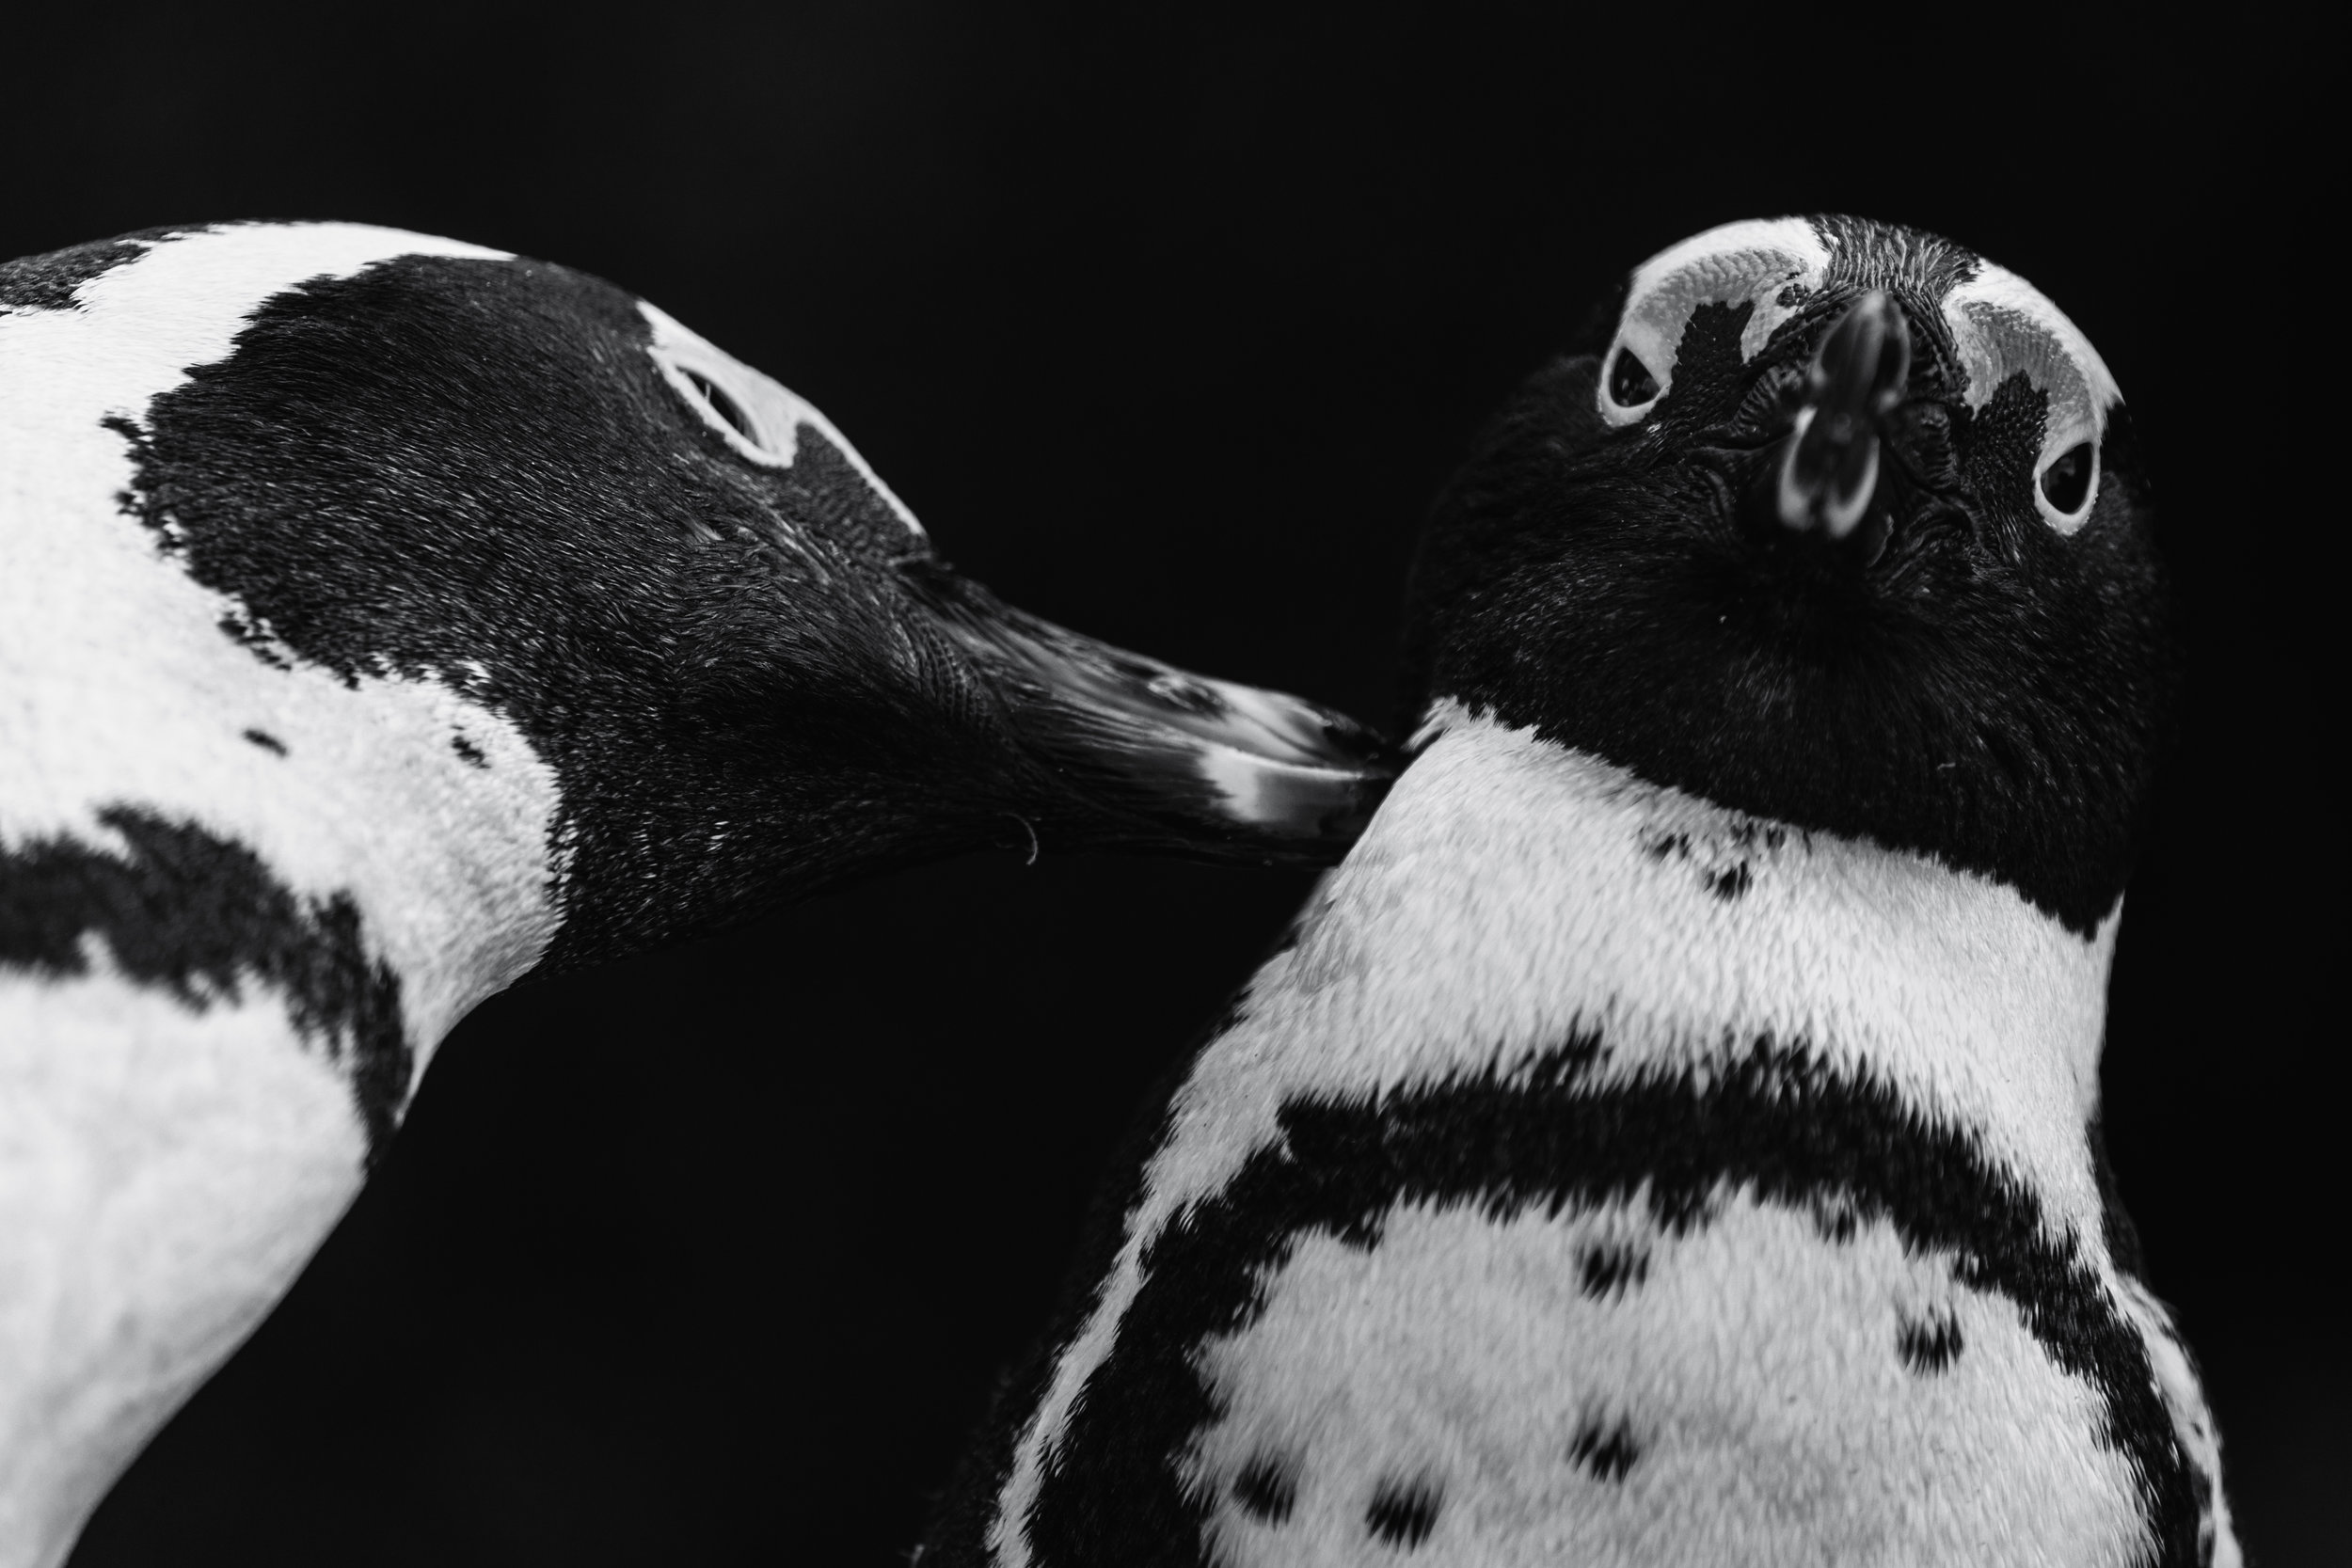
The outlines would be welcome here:
<svg viewBox="0 0 2352 1568">
<path fill-rule="evenodd" d="M 924 1563 L 2237 1561 L 2100 1147 L 2173 663 L 2107 369 L 1853 219 L 1604 331 Z"/>
</svg>

